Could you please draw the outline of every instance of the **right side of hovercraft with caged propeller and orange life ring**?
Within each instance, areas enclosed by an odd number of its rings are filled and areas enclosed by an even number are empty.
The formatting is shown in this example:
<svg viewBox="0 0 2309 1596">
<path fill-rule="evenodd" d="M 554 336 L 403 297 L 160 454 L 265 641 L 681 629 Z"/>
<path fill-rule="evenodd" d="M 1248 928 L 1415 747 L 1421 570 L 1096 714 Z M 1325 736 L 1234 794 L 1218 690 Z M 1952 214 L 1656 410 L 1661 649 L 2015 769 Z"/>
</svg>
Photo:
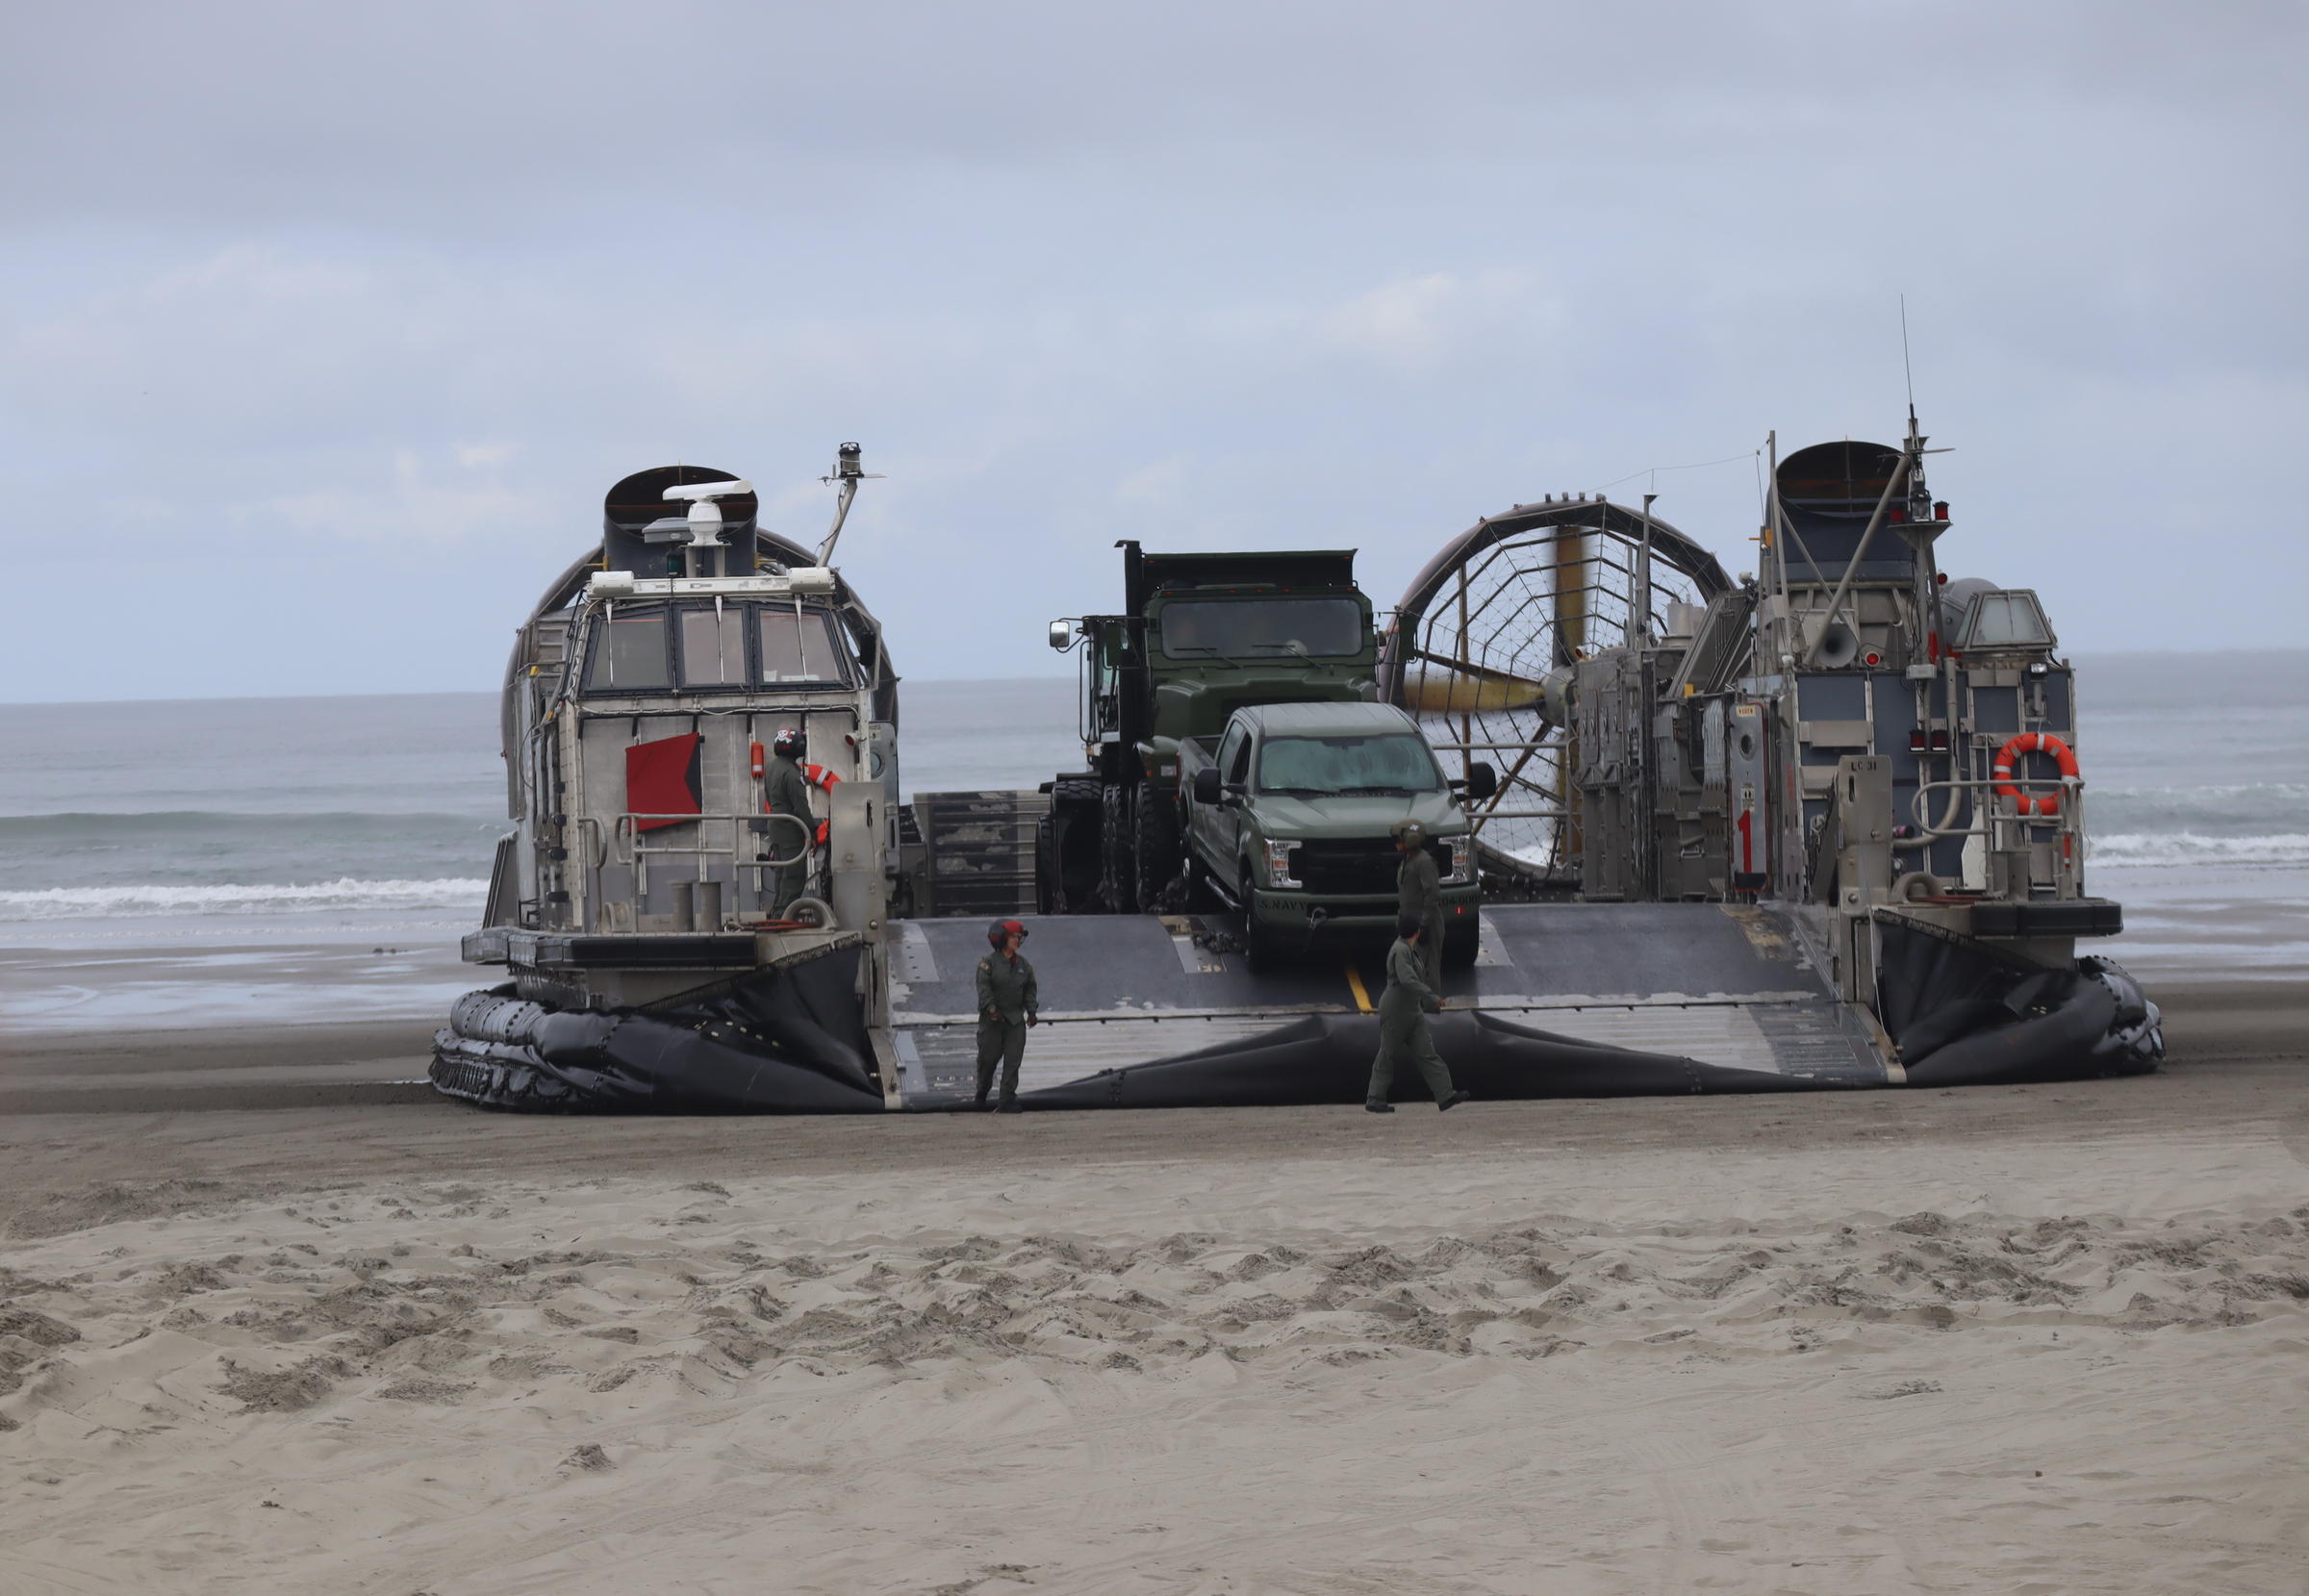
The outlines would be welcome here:
<svg viewBox="0 0 2309 1596">
<path fill-rule="evenodd" d="M 2083 952 L 2124 922 L 2085 887 L 2073 670 L 2034 591 L 1940 568 L 1928 453 L 1912 416 L 1898 448 L 1776 460 L 1736 584 L 1649 499 L 1487 517 L 1404 596 L 1381 686 L 1439 751 L 1503 765 L 1471 806 L 1487 892 L 1561 912 L 1487 908 L 1487 931 L 1607 938 L 1614 905 L 1699 970 L 1729 915 L 1833 1005 L 1789 1030 L 1783 1074 L 1826 1019 L 1863 1044 L 1847 1081 L 2150 1069 L 2157 1007 Z M 1621 998 L 1653 993 L 1552 1002 Z"/>
</svg>

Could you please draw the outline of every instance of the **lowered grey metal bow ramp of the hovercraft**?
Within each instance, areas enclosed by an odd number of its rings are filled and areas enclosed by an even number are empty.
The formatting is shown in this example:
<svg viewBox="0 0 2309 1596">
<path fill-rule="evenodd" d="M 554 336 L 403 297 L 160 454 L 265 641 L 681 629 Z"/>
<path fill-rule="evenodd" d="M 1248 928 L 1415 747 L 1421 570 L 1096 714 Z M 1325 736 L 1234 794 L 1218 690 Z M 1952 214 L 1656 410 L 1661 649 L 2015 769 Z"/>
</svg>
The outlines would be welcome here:
<svg viewBox="0 0 2309 1596">
<path fill-rule="evenodd" d="M 1360 1102 L 1378 1044 L 1378 949 L 1251 975 L 1217 919 L 1030 919 L 1041 1026 L 1034 1106 Z M 898 1102 L 977 1088 L 977 922 L 894 926 Z M 1769 908 L 1531 903 L 1482 910 L 1480 954 L 1445 970 L 1436 1046 L 1478 1097 L 1741 1092 L 1900 1081 L 1866 1014 L 1838 1002 Z M 1408 1095 L 1425 1088 L 1415 1072 Z M 1399 1092 L 1406 1088 L 1399 1086 Z"/>
</svg>

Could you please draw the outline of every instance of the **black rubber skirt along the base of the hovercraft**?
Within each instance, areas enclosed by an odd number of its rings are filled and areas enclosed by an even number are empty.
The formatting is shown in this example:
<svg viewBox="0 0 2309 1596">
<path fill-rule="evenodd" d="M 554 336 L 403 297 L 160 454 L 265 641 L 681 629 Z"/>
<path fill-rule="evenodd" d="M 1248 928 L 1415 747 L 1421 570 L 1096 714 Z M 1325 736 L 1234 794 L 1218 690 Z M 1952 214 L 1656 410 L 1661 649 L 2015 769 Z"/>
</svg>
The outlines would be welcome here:
<svg viewBox="0 0 2309 1596">
<path fill-rule="evenodd" d="M 2043 970 L 1993 949 L 1882 928 L 1877 1014 L 1898 1060 L 1882 1086 L 1990 1086 L 2140 1074 L 2164 1058 L 2157 1005 L 2106 959 Z M 762 970 L 637 1012 L 556 1012 L 510 986 L 466 993 L 434 1035 L 434 1086 L 526 1113 L 880 1113 L 857 1000 L 859 952 Z M 1792 1092 L 1868 1081 L 1711 1065 L 1561 1037 L 1452 1009 L 1432 1023 L 1452 1083 L 1478 1099 Z M 1272 1030 L 1021 1092 L 1028 1109 L 1362 1102 L 1378 1021 L 1307 1014 Z M 1891 1067 L 1898 1062 L 1898 1067 Z M 1425 1083 L 1399 1069 L 1395 1095 Z M 958 1106 L 958 1104 L 912 1104 Z"/>
</svg>

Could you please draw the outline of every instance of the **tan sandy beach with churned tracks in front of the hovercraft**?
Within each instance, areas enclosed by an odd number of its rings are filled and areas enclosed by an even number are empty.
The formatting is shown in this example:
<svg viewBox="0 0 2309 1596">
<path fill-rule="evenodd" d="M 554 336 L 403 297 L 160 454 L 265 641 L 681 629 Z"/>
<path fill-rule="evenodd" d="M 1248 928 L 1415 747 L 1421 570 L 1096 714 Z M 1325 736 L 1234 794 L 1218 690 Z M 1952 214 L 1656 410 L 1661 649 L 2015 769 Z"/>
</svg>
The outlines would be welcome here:
<svg viewBox="0 0 2309 1596">
<path fill-rule="evenodd" d="M 9 1591 L 2297 1591 L 2309 989 L 2145 1079 L 517 1120 L 0 1060 Z"/>
</svg>

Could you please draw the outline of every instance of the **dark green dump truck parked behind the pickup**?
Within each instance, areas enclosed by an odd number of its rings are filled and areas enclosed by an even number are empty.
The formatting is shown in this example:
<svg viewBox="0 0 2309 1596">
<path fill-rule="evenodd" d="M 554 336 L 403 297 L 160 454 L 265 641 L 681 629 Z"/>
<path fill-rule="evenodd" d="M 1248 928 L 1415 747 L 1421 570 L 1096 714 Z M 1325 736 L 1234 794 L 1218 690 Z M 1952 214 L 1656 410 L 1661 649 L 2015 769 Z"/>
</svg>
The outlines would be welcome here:
<svg viewBox="0 0 2309 1596">
<path fill-rule="evenodd" d="M 1122 550 L 1122 612 L 1053 621 L 1081 649 L 1088 769 L 1046 783 L 1037 898 L 1046 915 L 1129 915 L 1180 901 L 1178 751 L 1245 704 L 1376 693 L 1372 601 L 1353 550 Z"/>
</svg>

